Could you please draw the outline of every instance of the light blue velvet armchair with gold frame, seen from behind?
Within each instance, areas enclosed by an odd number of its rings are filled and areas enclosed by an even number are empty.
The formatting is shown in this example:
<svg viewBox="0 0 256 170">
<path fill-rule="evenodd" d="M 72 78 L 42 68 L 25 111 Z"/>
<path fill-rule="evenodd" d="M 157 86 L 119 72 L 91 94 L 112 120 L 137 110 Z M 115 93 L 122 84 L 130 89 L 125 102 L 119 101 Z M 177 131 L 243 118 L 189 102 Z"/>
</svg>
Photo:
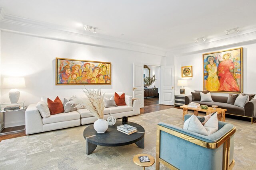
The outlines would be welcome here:
<svg viewBox="0 0 256 170">
<path fill-rule="evenodd" d="M 185 115 L 186 121 L 191 115 Z M 236 127 L 218 121 L 218 131 L 200 135 L 166 123 L 158 123 L 156 170 L 160 163 L 172 170 L 230 170 L 234 167 Z"/>
</svg>

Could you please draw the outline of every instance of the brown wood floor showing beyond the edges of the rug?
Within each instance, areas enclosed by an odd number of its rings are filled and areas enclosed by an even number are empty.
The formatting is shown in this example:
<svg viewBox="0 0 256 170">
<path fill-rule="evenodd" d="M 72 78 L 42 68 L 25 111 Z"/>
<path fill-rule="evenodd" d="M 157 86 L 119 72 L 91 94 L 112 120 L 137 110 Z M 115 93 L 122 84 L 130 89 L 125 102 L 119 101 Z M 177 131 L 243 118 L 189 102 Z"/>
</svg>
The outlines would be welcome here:
<svg viewBox="0 0 256 170">
<path fill-rule="evenodd" d="M 158 111 L 158 110 L 163 110 L 163 109 L 169 109 L 172 107 L 173 106 L 167 106 L 167 105 L 146 106 L 146 107 L 140 108 L 140 114 L 150 113 L 153 111 Z M 12 130 L 15 130 L 15 129 L 12 129 Z M 22 136 L 26 136 L 25 131 L 22 131 L 19 133 L 10 133 L 10 134 L 6 134 L 6 135 L 0 135 L 0 142 L 5 139 L 12 139 L 12 138 L 22 137 Z"/>
</svg>

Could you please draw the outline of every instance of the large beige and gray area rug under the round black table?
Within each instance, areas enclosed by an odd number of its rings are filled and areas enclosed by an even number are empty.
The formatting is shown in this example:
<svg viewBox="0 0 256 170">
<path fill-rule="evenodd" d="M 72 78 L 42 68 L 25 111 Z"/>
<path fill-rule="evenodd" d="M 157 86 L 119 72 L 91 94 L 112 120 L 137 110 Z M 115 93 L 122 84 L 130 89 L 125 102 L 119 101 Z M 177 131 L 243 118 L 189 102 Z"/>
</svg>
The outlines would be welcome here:
<svg viewBox="0 0 256 170">
<path fill-rule="evenodd" d="M 192 114 L 192 112 L 189 112 Z M 200 115 L 200 113 L 199 113 Z M 201 115 L 205 115 L 201 113 Z M 49 131 L 3 140 L 0 143 L 1 170 L 141 170 L 133 162 L 140 153 L 156 156 L 156 125 L 158 122 L 182 127 L 182 110 L 171 108 L 128 118 L 145 129 L 145 148 L 135 144 L 121 147 L 97 146 L 86 155 L 83 131 L 88 125 Z M 236 126 L 234 170 L 253 170 L 256 165 L 256 123 L 226 118 Z M 146 168 L 154 170 L 155 164 Z M 161 170 L 168 170 L 160 164 Z"/>
</svg>

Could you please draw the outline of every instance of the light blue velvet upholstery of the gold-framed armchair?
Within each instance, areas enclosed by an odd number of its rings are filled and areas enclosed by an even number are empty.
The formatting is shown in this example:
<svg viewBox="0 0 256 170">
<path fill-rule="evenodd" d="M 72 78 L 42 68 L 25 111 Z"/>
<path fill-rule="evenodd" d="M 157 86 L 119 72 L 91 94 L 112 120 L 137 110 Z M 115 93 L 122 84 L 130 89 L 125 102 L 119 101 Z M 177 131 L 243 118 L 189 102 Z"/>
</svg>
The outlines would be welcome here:
<svg viewBox="0 0 256 170">
<path fill-rule="evenodd" d="M 191 115 L 185 115 L 186 121 Z M 167 123 L 158 123 L 160 127 L 166 127 L 180 134 L 199 139 L 206 143 L 216 143 L 222 140 L 223 136 L 232 131 L 234 125 L 218 121 L 218 131 L 209 136 L 196 134 L 194 132 L 169 125 Z M 159 156 L 168 164 L 181 170 L 217 170 L 223 166 L 224 145 L 216 149 L 208 149 L 190 141 L 184 140 L 166 131 L 160 130 Z M 157 149 L 158 152 L 158 149 Z M 234 134 L 230 137 L 230 158 L 228 163 L 231 164 L 234 158 Z M 159 161 L 158 157 L 156 158 Z M 159 163 L 156 164 L 156 169 Z"/>
</svg>

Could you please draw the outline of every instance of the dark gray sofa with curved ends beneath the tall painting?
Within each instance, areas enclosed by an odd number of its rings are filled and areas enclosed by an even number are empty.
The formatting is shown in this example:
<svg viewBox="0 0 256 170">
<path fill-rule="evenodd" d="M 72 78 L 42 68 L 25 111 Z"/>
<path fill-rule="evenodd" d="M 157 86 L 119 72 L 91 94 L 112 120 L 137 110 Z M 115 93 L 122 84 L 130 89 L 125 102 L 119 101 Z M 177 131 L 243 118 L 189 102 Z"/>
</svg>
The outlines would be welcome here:
<svg viewBox="0 0 256 170">
<path fill-rule="evenodd" d="M 192 95 L 185 96 L 185 104 L 189 104 L 190 102 L 197 102 L 200 105 L 204 104 L 207 106 L 212 107 L 212 105 L 217 105 L 219 108 L 227 109 L 226 114 L 230 115 L 237 115 L 242 117 L 250 117 L 251 123 L 253 123 L 253 118 L 256 117 L 256 99 L 252 99 L 247 102 L 244 106 L 238 107 L 232 104 L 227 104 L 228 97 L 227 96 L 213 96 L 211 95 L 212 100 L 214 102 L 200 102 L 200 101 L 193 101 Z"/>
</svg>

